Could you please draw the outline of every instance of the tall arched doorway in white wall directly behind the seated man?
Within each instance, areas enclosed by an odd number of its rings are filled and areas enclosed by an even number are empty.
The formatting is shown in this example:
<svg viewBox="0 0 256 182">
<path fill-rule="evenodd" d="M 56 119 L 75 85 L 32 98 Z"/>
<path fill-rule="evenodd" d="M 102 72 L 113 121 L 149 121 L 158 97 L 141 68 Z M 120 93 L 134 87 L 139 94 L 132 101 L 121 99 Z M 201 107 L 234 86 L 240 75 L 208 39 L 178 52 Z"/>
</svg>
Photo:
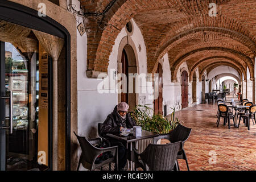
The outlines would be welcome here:
<svg viewBox="0 0 256 182">
<path fill-rule="evenodd" d="M 121 69 L 121 73 L 124 73 L 126 75 L 126 92 L 121 92 L 121 98 L 118 101 L 126 102 L 129 105 L 129 110 L 132 110 L 137 104 L 134 74 L 137 73 L 137 61 L 133 48 L 130 45 L 126 45 L 123 48 L 121 57 Z"/>
</svg>

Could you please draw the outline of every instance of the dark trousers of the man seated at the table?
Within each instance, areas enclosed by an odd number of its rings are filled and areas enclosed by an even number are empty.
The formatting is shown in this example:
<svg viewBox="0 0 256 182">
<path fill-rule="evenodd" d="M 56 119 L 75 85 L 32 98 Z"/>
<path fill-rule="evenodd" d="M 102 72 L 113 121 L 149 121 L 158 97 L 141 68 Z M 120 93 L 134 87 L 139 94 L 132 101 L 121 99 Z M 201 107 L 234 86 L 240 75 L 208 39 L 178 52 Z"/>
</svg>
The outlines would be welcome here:
<svg viewBox="0 0 256 182">
<path fill-rule="evenodd" d="M 118 146 L 118 166 L 119 170 L 125 168 L 127 162 L 127 149 L 125 145 L 118 140 L 110 140 L 112 146 Z"/>
</svg>

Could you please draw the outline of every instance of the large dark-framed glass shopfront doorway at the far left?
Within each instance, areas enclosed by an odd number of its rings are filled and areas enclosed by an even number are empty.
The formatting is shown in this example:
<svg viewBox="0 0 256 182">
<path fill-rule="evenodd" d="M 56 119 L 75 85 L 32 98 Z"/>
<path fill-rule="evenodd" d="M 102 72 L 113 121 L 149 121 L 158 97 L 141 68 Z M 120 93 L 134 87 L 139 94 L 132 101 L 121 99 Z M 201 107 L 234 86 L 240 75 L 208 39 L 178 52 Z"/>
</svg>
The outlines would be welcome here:
<svg viewBox="0 0 256 182">
<path fill-rule="evenodd" d="M 0 39 L 0 118 L 6 122 L 0 126 L 0 171 L 51 170 L 53 164 L 58 163 L 59 167 L 59 160 L 62 160 L 61 167 L 70 170 L 69 32 L 48 16 L 40 18 L 37 10 L 9 1 L 0 2 L 0 22 L 7 25 L 2 27 L 16 30 L 15 34 L 8 34 L 8 30 L 1 29 L 1 35 L 6 36 Z M 18 34 L 19 31 L 27 34 Z M 42 34 L 46 39 L 36 36 Z M 18 41 L 17 37 L 22 38 Z M 51 55 L 56 48 L 51 51 L 44 48 L 49 38 L 64 42 L 63 47 L 59 46 L 59 56 Z M 54 76 L 57 82 L 53 80 Z M 63 109 L 61 113 L 65 112 L 61 119 L 57 117 L 60 113 L 55 107 Z M 58 125 L 60 120 L 61 128 Z M 58 146 L 52 144 L 56 142 L 54 131 L 58 133 Z M 60 141 L 59 138 L 64 139 Z M 54 161 L 53 155 L 56 154 L 59 159 Z"/>
</svg>

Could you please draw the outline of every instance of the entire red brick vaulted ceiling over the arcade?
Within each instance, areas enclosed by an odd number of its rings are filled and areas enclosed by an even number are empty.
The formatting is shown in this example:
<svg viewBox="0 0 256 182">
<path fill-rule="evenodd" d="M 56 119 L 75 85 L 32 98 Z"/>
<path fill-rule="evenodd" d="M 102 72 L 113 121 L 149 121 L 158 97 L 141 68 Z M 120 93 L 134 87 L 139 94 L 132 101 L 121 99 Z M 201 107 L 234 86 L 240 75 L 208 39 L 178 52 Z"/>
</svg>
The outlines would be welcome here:
<svg viewBox="0 0 256 182">
<path fill-rule="evenodd" d="M 107 72 L 115 38 L 133 18 L 146 44 L 148 73 L 154 73 L 159 59 L 168 53 L 172 81 L 184 61 L 189 75 L 196 68 L 202 73 L 216 65 L 229 65 L 244 75 L 248 67 L 254 79 L 255 0 L 80 1 L 88 28 L 88 70 Z M 218 8 L 217 16 L 211 17 L 208 6 L 212 2 Z"/>
</svg>

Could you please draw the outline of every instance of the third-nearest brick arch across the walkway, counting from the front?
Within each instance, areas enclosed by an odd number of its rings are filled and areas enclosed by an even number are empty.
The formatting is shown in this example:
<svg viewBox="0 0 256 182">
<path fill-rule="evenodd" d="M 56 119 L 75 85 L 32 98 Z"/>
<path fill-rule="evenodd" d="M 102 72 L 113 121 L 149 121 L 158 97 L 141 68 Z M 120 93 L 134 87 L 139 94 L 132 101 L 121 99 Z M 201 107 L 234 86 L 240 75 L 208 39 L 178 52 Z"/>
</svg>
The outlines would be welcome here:
<svg viewBox="0 0 256 182">
<path fill-rule="evenodd" d="M 174 61 L 174 64 L 171 67 L 171 72 L 174 73 L 171 75 L 172 81 L 175 81 L 174 76 L 177 74 L 177 68 L 179 68 L 179 66 L 185 61 L 184 59 L 186 57 L 189 57 L 196 52 L 211 51 L 211 50 L 228 52 L 230 53 L 230 55 L 235 55 L 236 57 L 238 57 L 238 59 L 244 60 L 246 62 L 246 65 L 249 68 L 251 79 L 254 78 L 254 63 L 252 63 L 250 57 L 247 57 L 242 53 L 235 51 L 234 49 L 228 49 L 223 47 L 205 47 L 205 48 L 195 49 L 193 51 L 187 52 Z"/>
</svg>

